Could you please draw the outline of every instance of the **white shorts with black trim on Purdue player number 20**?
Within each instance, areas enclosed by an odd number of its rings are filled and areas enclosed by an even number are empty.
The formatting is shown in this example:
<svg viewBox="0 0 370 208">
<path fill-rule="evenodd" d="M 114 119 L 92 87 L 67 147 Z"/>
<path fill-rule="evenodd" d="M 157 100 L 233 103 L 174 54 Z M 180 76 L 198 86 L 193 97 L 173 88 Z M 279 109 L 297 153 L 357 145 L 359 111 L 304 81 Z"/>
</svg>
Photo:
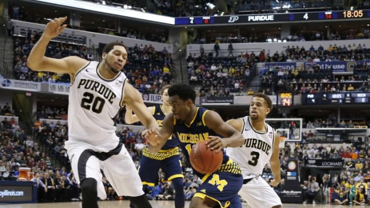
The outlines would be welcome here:
<svg viewBox="0 0 370 208">
<path fill-rule="evenodd" d="M 144 194 L 135 164 L 123 144 L 109 152 L 96 152 L 99 147 L 76 141 L 67 141 L 65 148 L 77 182 L 80 184 L 86 178 L 97 180 L 100 199 L 106 198 L 100 169 L 118 196 L 137 197 Z"/>
</svg>

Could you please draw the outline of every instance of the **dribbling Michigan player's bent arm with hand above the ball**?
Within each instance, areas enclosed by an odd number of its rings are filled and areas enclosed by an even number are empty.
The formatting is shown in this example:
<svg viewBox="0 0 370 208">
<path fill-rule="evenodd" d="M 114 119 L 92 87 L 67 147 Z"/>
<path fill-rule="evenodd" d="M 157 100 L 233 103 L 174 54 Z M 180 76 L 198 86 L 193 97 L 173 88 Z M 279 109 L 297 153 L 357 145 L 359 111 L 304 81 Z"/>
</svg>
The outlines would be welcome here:
<svg viewBox="0 0 370 208">
<path fill-rule="evenodd" d="M 207 142 L 211 149 L 220 151 L 225 147 L 239 147 L 244 144 L 244 138 L 242 134 L 235 128 L 227 124 L 218 114 L 213 110 L 206 112 L 204 116 L 205 124 L 212 129 L 215 133 L 225 137 L 221 139 L 219 137 L 210 137 Z"/>
</svg>

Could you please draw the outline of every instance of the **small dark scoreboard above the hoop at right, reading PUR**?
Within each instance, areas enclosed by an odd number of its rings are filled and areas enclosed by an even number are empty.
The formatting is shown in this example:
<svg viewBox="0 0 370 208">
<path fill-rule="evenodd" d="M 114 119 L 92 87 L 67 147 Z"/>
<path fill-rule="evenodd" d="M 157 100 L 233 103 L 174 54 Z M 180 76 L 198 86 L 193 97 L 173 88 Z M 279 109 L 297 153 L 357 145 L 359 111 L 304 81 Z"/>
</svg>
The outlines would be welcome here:
<svg viewBox="0 0 370 208">
<path fill-rule="evenodd" d="M 370 92 L 330 92 L 302 94 L 302 105 L 370 104 Z"/>
</svg>

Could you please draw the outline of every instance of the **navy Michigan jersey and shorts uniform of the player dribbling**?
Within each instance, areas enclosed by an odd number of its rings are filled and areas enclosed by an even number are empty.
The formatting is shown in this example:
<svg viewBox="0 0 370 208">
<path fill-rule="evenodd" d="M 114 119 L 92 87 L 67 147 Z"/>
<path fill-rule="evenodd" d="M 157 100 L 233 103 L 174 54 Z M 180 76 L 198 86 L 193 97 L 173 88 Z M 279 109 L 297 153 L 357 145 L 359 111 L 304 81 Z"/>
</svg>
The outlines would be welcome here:
<svg viewBox="0 0 370 208">
<path fill-rule="evenodd" d="M 204 118 L 207 111 L 206 108 L 197 108 L 190 125 L 174 118 L 173 134 L 179 141 L 182 152 L 188 161 L 191 148 L 194 144 L 208 140 L 209 136 L 218 136 L 205 123 Z M 214 173 L 201 174 L 193 168 L 193 173 L 199 176 L 202 181 L 202 184 L 193 197 L 199 197 L 201 199 L 208 197 L 216 201 L 221 208 L 242 208 L 242 203 L 237 194 L 243 185 L 241 168 L 229 159 L 224 150 L 223 154 L 223 163 Z"/>
</svg>

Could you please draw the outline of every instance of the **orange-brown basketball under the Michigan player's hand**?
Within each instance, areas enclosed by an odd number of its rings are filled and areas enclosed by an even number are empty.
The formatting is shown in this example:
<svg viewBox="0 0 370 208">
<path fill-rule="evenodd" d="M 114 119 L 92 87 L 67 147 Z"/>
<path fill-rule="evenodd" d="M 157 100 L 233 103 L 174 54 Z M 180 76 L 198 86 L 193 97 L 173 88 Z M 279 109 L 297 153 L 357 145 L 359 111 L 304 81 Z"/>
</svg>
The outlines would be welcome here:
<svg viewBox="0 0 370 208">
<path fill-rule="evenodd" d="M 201 141 L 192 147 L 190 153 L 190 164 L 195 171 L 208 174 L 217 171 L 223 162 L 223 152 L 216 153 L 207 147 L 207 141 Z"/>
</svg>

